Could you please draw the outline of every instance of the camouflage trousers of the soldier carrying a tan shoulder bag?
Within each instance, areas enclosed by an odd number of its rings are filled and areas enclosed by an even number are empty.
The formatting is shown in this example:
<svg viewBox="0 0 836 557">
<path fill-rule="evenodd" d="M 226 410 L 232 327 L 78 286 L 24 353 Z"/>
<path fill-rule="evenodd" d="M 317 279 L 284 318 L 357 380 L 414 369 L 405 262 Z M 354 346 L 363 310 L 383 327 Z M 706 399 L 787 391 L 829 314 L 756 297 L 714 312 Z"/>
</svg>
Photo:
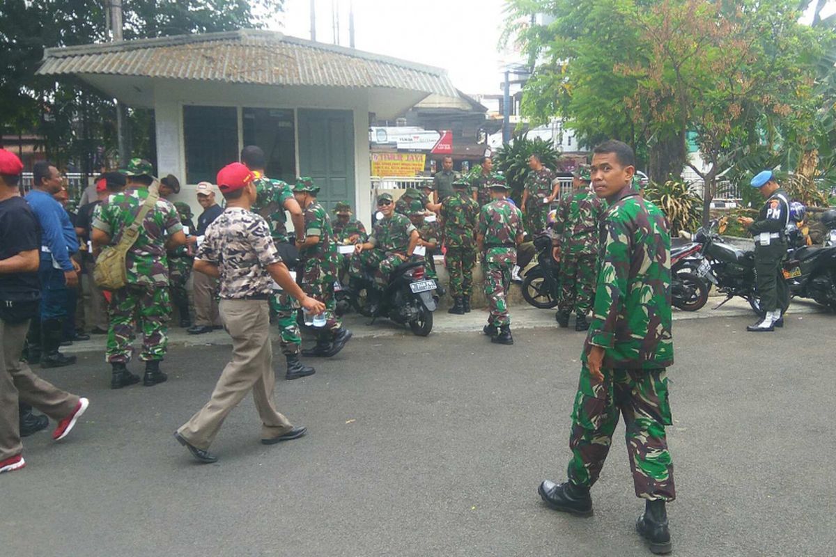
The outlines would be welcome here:
<svg viewBox="0 0 836 557">
<path fill-rule="evenodd" d="M 113 291 L 108 306 L 110 327 L 104 356 L 110 363 L 130 362 L 137 323 L 142 327 L 140 360 L 161 360 L 168 346 L 171 303 L 168 288 L 128 285 Z"/>
</svg>

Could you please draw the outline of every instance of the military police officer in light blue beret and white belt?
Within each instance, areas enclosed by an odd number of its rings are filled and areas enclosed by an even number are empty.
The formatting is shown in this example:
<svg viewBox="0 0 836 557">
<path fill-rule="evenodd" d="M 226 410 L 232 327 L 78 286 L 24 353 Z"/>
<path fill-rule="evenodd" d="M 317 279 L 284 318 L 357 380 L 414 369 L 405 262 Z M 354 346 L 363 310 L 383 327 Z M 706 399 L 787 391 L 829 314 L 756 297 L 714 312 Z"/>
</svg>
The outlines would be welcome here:
<svg viewBox="0 0 836 557">
<path fill-rule="evenodd" d="M 758 188 L 767 202 L 757 220 L 750 217 L 738 220 L 749 227 L 749 234 L 755 238 L 755 280 L 764 314 L 761 321 L 746 330 L 769 332 L 783 327 L 782 313 L 789 307 L 789 288 L 781 272 L 781 262 L 787 256 L 784 231 L 789 222 L 789 197 L 778 185 L 772 170 L 764 170 L 752 178 L 752 187 Z"/>
</svg>

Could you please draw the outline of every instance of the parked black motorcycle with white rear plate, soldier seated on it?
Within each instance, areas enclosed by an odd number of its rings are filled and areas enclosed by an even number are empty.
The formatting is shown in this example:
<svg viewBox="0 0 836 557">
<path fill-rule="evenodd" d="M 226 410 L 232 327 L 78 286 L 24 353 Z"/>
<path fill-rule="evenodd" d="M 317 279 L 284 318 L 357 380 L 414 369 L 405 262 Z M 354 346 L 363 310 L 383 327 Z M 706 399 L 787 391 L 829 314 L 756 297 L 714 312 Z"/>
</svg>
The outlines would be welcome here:
<svg viewBox="0 0 836 557">
<path fill-rule="evenodd" d="M 426 278 L 424 261 L 407 261 L 392 271 L 389 284 L 377 300 L 377 309 L 372 311 L 370 292 L 374 279 L 369 269 L 358 283 L 349 289 L 340 291 L 340 296 L 347 296 L 354 310 L 359 314 L 372 317 L 388 317 L 403 325 L 409 325 L 411 331 L 419 337 L 426 337 L 432 331 L 432 312 L 438 307 L 438 300 L 433 296 L 436 281 Z"/>
</svg>

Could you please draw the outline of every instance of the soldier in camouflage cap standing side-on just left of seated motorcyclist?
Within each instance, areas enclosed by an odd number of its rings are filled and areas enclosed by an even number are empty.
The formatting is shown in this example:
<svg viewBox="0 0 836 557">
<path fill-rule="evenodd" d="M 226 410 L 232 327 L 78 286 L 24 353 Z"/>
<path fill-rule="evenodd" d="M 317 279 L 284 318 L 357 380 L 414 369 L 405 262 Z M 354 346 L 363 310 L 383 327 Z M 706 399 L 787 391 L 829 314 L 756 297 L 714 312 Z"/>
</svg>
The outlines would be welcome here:
<svg viewBox="0 0 836 557">
<path fill-rule="evenodd" d="M 343 320 L 335 314 L 334 281 L 337 280 L 337 244 L 331 219 L 316 200 L 319 186 L 308 176 L 300 176 L 293 186 L 296 202 L 305 215 L 305 240 L 299 244 L 302 289 L 308 296 L 325 304 L 325 326 L 317 334 L 316 346 L 303 350 L 303 356 L 332 357 L 343 349 L 351 332 L 343 327 Z"/>
</svg>

